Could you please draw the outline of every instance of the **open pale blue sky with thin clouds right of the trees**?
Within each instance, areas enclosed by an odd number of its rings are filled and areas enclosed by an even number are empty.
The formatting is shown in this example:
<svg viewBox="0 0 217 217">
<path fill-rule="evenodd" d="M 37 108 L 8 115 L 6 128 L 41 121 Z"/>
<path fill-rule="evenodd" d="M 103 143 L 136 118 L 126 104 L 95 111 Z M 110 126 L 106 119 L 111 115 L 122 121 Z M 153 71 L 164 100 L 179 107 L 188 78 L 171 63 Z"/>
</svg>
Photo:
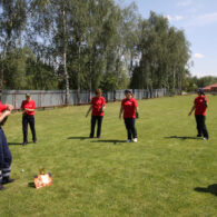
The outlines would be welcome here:
<svg viewBox="0 0 217 217">
<path fill-rule="evenodd" d="M 190 42 L 190 73 L 217 76 L 217 0 L 117 0 L 121 7 L 135 2 L 142 18 L 150 11 L 169 19 L 170 26 L 184 30 Z"/>
</svg>

